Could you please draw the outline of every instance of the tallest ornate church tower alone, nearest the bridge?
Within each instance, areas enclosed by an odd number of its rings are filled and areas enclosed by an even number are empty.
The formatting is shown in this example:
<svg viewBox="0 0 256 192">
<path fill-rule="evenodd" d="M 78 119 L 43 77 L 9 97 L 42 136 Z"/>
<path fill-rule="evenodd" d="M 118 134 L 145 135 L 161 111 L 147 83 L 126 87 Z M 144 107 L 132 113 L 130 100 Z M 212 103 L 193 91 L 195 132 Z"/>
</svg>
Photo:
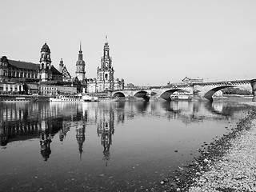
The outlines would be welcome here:
<svg viewBox="0 0 256 192">
<path fill-rule="evenodd" d="M 98 91 L 114 90 L 114 68 L 112 66 L 112 58 L 110 57 L 109 43 L 106 42 L 103 48 L 103 56 L 101 67 L 97 70 Z"/>
</svg>

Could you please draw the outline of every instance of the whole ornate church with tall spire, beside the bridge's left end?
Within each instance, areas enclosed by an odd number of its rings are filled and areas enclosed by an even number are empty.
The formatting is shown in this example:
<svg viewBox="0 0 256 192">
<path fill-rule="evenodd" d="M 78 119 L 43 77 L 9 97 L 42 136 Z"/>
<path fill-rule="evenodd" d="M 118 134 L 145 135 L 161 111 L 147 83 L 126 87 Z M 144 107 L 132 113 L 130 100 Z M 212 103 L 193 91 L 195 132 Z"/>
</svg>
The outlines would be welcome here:
<svg viewBox="0 0 256 192">
<path fill-rule="evenodd" d="M 87 81 L 87 91 L 89 93 L 102 93 L 124 88 L 123 79 L 114 79 L 114 67 L 110 57 L 110 47 L 105 42 L 101 66 L 97 69 L 97 78 L 90 78 Z"/>
</svg>

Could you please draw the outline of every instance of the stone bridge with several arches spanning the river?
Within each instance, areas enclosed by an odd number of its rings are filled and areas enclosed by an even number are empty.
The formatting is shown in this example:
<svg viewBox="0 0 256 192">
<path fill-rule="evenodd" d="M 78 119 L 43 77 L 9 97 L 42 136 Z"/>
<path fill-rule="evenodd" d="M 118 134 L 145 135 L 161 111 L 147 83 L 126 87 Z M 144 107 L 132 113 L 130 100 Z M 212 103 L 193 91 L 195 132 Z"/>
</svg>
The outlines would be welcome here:
<svg viewBox="0 0 256 192">
<path fill-rule="evenodd" d="M 170 95 L 178 90 L 183 90 L 193 94 L 193 98 L 208 99 L 213 101 L 212 96 L 218 90 L 222 90 L 227 87 L 241 87 L 247 88 L 251 86 L 252 94 L 254 95 L 253 101 L 256 101 L 256 79 L 252 80 L 237 80 L 228 82 L 201 82 L 191 84 L 172 84 L 170 86 L 148 86 L 130 90 L 116 90 L 112 95 L 118 97 L 136 97 L 144 98 L 148 100 L 150 96 L 156 98 L 163 98 L 170 100 Z"/>
</svg>

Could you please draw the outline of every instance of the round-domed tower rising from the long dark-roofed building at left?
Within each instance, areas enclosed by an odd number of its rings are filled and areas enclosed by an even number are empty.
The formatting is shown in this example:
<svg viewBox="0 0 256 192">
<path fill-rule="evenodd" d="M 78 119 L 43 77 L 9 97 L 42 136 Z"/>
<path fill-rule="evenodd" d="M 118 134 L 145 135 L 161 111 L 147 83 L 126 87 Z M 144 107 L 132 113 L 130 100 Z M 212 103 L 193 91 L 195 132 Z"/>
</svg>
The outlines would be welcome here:
<svg viewBox="0 0 256 192">
<path fill-rule="evenodd" d="M 50 68 L 51 68 L 50 48 L 46 43 L 42 46 L 41 58 L 39 62 L 40 62 L 39 70 L 41 72 L 42 82 L 51 80 L 52 74 L 50 71 Z"/>
</svg>

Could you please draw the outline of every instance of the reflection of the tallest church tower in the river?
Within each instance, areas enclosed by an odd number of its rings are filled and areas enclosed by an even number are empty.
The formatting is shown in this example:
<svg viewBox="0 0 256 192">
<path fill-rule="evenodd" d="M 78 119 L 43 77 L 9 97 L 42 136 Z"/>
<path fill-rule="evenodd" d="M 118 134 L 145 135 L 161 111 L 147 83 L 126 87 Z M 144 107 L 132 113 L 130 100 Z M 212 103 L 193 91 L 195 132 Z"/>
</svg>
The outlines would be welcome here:
<svg viewBox="0 0 256 192">
<path fill-rule="evenodd" d="M 110 160 L 110 145 L 112 145 L 112 135 L 114 134 L 114 111 L 101 111 L 99 113 L 99 122 L 97 127 L 98 137 L 101 137 L 103 150 L 103 160 L 107 162 Z M 107 113 L 109 112 L 109 113 Z"/>
</svg>

